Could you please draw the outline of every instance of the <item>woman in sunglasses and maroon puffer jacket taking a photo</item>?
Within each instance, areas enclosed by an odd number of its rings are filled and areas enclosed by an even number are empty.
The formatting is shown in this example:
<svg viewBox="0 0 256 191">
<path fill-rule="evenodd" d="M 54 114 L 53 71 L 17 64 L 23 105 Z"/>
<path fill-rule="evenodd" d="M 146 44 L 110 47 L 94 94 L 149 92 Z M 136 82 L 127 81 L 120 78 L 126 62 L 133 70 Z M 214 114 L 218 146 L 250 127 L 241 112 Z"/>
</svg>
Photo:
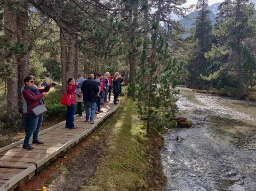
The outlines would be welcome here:
<svg viewBox="0 0 256 191">
<path fill-rule="evenodd" d="M 35 86 L 35 78 L 33 76 L 27 76 L 24 78 L 24 90 L 22 91 L 22 96 L 27 103 L 27 113 L 26 113 L 26 128 L 25 128 L 25 139 L 22 146 L 24 150 L 33 150 L 34 148 L 30 146 L 29 139 L 33 135 L 32 144 L 44 144 L 38 140 L 38 133 L 43 121 L 43 114 L 40 116 L 35 116 L 31 109 L 44 104 L 43 97 L 46 92 L 51 88 L 50 82 L 46 82 L 47 86 L 42 87 L 42 82 Z"/>
</svg>

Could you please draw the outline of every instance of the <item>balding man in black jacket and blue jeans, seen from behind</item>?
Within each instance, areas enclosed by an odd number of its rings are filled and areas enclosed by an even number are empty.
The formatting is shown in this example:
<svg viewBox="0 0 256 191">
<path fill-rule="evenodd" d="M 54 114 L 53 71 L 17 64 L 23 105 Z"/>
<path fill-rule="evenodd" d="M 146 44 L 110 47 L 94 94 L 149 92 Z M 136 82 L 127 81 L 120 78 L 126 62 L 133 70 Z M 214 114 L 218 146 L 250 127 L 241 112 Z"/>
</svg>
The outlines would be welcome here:
<svg viewBox="0 0 256 191">
<path fill-rule="evenodd" d="M 94 74 L 90 74 L 87 80 L 83 81 L 81 91 L 83 92 L 83 101 L 85 105 L 85 114 L 86 121 L 91 124 L 94 123 L 94 115 L 96 109 L 96 101 L 97 101 L 97 93 L 99 92 L 99 88 L 97 83 L 93 80 Z M 90 116 L 90 105 L 92 108 L 92 113 Z"/>
</svg>

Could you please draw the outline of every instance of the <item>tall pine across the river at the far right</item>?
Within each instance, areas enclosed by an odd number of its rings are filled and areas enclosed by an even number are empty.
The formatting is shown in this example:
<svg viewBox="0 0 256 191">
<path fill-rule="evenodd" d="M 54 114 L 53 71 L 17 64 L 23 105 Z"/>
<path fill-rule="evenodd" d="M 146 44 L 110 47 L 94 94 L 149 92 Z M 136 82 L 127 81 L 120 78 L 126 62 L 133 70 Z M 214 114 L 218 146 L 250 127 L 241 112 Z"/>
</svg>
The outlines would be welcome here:
<svg viewBox="0 0 256 191">
<path fill-rule="evenodd" d="M 248 46 L 245 40 L 254 35 L 250 20 L 255 14 L 254 4 L 249 0 L 226 0 L 219 5 L 213 34 L 218 42 L 206 54 L 218 66 L 217 70 L 204 79 L 212 80 L 224 75 L 237 79 L 237 88 L 244 92 L 243 73 L 247 63 Z M 244 51 L 244 49 L 247 49 Z"/>
</svg>

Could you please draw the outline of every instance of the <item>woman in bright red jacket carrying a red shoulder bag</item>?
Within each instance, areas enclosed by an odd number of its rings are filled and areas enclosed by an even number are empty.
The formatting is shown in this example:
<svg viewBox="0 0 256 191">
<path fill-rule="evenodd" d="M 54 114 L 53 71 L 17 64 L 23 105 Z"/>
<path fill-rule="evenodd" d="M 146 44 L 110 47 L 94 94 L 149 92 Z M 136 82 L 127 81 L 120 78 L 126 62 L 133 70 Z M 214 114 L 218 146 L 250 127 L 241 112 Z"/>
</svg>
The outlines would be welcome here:
<svg viewBox="0 0 256 191">
<path fill-rule="evenodd" d="M 74 115 L 76 112 L 76 87 L 79 82 L 75 83 L 74 78 L 69 78 L 67 81 L 67 93 L 71 94 L 72 102 L 70 106 L 67 106 L 67 115 L 66 115 L 66 128 L 77 129 L 74 125 Z"/>
</svg>

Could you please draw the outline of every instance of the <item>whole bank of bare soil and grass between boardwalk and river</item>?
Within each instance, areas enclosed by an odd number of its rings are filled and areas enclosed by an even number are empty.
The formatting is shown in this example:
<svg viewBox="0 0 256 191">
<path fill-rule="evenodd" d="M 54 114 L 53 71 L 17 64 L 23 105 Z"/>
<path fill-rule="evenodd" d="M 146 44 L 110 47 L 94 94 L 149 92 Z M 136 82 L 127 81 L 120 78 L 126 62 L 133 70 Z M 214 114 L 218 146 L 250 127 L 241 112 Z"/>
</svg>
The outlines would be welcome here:
<svg viewBox="0 0 256 191">
<path fill-rule="evenodd" d="M 114 115 L 18 190 L 162 190 L 164 139 L 137 116 L 132 97 L 121 98 Z"/>
</svg>

